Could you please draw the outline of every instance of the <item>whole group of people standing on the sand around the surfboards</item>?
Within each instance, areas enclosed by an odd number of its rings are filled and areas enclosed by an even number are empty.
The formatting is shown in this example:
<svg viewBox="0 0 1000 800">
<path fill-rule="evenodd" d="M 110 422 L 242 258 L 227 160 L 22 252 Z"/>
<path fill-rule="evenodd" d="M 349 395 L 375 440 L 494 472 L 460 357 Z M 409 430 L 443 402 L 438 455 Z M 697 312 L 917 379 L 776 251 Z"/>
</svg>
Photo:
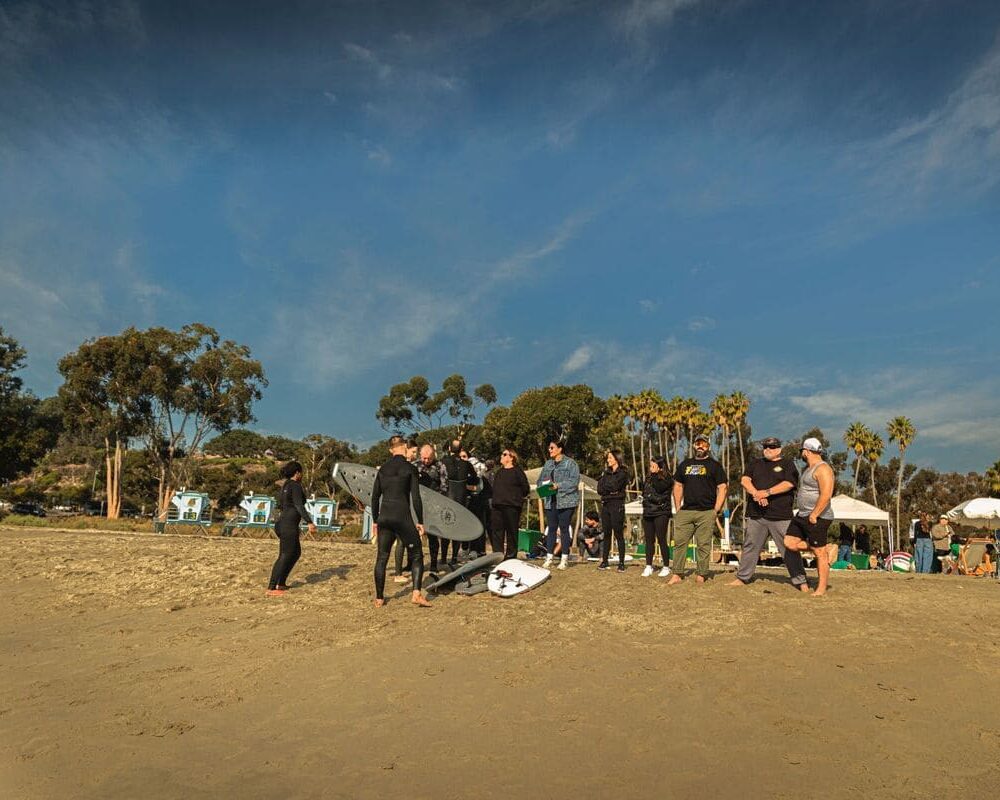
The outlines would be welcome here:
<svg viewBox="0 0 1000 800">
<path fill-rule="evenodd" d="M 696 550 L 695 580 L 703 583 L 707 579 L 712 539 L 726 503 L 728 478 L 711 455 L 709 438 L 696 436 L 692 444 L 692 455 L 677 464 L 673 473 L 665 459 L 651 457 L 641 487 L 646 560 L 642 574 L 650 577 L 655 572 L 659 547 L 659 576 L 669 578 L 669 585 L 680 583 L 686 576 L 692 541 Z M 761 444 L 762 457 L 752 461 L 741 478 L 747 492 L 747 525 L 739 567 L 731 585 L 746 585 L 753 579 L 760 553 L 770 537 L 784 559 L 792 584 L 803 592 L 808 592 L 809 587 L 802 554 L 807 550 L 815 554 L 819 580 L 814 593 L 822 595 L 830 571 L 826 538 L 833 519 L 830 507 L 833 470 L 824 461 L 823 447 L 815 438 L 801 444 L 800 457 L 805 463 L 801 475 L 794 461 L 782 456 L 778 439 L 769 437 Z M 552 566 L 558 557 L 556 568 L 566 569 L 573 544 L 573 518 L 580 507 L 580 468 L 564 452 L 560 439 L 550 440 L 547 449 L 548 459 L 536 482 L 538 494 L 544 498 L 544 565 Z M 487 537 L 494 552 L 503 553 L 505 558 L 517 556 L 521 512 L 531 487 L 515 450 L 504 448 L 498 467 L 489 462 L 477 464 L 458 440 L 451 442 L 440 459 L 433 445 L 418 448 L 416 442 L 402 436 L 390 439 L 389 450 L 390 457 L 378 471 L 370 501 L 372 532 L 378 544 L 377 607 L 385 603 L 386 570 L 394 546 L 395 580 L 412 581 L 412 602 L 430 605 L 420 591 L 424 574 L 421 539 L 425 537 L 420 486 L 469 508 L 480 517 L 486 531 L 479 541 L 465 545 L 426 534 L 431 571 L 436 571 L 439 564 L 456 566 L 461 547 L 484 553 Z M 280 548 L 268 588 L 271 594 L 287 590 L 285 581 L 301 552 L 300 522 L 312 525 L 300 485 L 301 465 L 290 462 L 283 473 L 287 480 L 282 487 L 281 515 L 275 526 Z M 622 454 L 609 450 L 605 470 L 597 481 L 600 514 L 589 512 L 577 531 L 577 544 L 586 555 L 599 558 L 598 569 L 611 568 L 614 542 L 617 570 L 625 571 L 625 502 L 630 483 Z M 667 536 L 671 519 L 672 558 Z"/>
</svg>

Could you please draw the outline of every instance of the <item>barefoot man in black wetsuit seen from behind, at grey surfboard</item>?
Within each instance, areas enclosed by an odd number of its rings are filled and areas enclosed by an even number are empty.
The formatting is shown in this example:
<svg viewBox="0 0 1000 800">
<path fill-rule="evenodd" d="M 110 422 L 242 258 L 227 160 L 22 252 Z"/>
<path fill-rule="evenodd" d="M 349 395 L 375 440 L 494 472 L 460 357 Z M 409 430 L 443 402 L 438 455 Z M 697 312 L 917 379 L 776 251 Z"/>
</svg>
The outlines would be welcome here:
<svg viewBox="0 0 1000 800">
<path fill-rule="evenodd" d="M 372 535 L 378 540 L 375 559 L 375 607 L 385 605 L 385 568 L 389 553 L 398 537 L 405 545 L 413 571 L 413 599 L 418 606 L 430 606 L 420 593 L 424 576 L 424 553 L 420 537 L 424 535 L 424 506 L 420 500 L 420 484 L 416 468 L 406 460 L 406 440 L 393 436 L 389 440 L 388 461 L 375 476 L 372 490 Z M 413 510 L 410 510 L 410 504 Z M 416 515 L 416 525 L 413 517 Z"/>
</svg>

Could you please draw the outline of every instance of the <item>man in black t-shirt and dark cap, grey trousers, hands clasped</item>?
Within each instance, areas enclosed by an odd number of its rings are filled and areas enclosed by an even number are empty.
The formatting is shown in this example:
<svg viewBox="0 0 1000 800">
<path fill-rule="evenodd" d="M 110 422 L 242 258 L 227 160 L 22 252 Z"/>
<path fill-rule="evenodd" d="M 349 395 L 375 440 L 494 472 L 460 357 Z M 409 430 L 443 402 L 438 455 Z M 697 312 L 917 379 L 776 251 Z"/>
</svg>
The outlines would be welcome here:
<svg viewBox="0 0 1000 800">
<path fill-rule="evenodd" d="M 792 501 L 799 483 L 799 471 L 792 459 L 781 457 L 781 442 L 778 439 L 769 436 L 761 442 L 761 447 L 764 457 L 752 461 L 740 480 L 747 492 L 746 532 L 743 534 L 736 578 L 729 585 L 745 586 L 750 583 L 760 553 L 770 536 L 785 560 L 792 585 L 808 592 L 801 554 L 785 548 L 785 532 L 792 519 Z"/>
</svg>

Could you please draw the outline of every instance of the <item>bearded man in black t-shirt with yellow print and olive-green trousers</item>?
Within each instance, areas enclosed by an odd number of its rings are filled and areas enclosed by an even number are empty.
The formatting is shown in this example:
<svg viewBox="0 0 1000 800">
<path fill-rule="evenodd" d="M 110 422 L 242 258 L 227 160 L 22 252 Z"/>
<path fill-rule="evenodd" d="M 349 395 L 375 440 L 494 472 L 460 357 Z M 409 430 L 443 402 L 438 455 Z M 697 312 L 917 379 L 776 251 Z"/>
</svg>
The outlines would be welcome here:
<svg viewBox="0 0 1000 800">
<path fill-rule="evenodd" d="M 667 585 L 678 584 L 684 578 L 687 548 L 692 538 L 698 547 L 696 580 L 704 583 L 708 577 L 715 517 L 726 502 L 728 483 L 722 464 L 708 454 L 708 437 L 696 436 L 694 458 L 678 464 L 674 475 L 674 506 L 678 511 L 674 516 L 674 557 L 670 565 L 673 575 Z"/>
</svg>

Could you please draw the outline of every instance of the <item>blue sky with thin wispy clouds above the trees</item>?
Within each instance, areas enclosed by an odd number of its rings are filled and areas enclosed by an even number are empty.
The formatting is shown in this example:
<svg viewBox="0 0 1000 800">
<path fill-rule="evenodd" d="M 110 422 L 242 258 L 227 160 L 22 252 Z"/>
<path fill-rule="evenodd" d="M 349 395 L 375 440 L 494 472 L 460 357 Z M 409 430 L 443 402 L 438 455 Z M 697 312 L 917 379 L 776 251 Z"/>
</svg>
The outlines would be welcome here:
<svg viewBox="0 0 1000 800">
<path fill-rule="evenodd" d="M 258 428 L 393 383 L 741 389 L 755 433 L 1000 458 L 1000 5 L 0 4 L 0 325 L 26 383 L 197 320 Z M 891 449 L 890 449 L 891 452 Z"/>
</svg>

